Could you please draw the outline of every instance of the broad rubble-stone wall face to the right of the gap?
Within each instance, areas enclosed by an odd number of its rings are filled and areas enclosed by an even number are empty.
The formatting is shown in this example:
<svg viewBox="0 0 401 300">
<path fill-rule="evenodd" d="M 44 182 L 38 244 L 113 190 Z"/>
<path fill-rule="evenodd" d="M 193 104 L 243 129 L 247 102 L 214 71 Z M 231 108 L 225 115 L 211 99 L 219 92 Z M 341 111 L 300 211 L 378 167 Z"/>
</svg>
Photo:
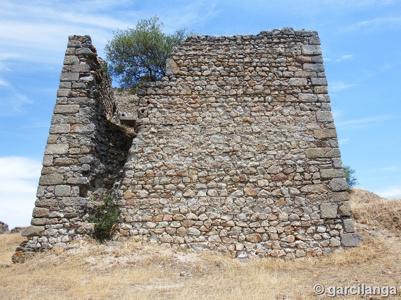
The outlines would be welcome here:
<svg viewBox="0 0 401 300">
<path fill-rule="evenodd" d="M 139 100 L 119 234 L 240 257 L 357 245 L 320 40 L 192 36 Z"/>
</svg>

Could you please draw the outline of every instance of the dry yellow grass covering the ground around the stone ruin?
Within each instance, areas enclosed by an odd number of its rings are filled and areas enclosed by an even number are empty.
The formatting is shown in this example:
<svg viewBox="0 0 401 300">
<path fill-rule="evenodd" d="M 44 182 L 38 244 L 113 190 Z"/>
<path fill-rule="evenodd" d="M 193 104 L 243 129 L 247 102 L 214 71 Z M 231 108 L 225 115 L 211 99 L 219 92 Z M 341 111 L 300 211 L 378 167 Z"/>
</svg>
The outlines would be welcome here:
<svg viewBox="0 0 401 300">
<path fill-rule="evenodd" d="M 321 299 L 329 297 L 314 293 L 317 283 L 328 287 L 358 282 L 393 285 L 400 292 L 401 239 L 395 225 L 387 226 L 389 215 L 399 211 L 399 200 L 388 205 L 388 200 L 358 199 L 352 199 L 355 215 L 369 219 L 356 224 L 362 244 L 330 256 L 244 263 L 226 255 L 181 252 L 138 241 L 114 247 L 81 241 L 68 250 L 56 248 L 24 264 L 0 268 L 0 298 Z M 374 209 L 369 206 L 373 202 Z M 10 262 L 21 240 L 18 234 L 0 235 L 0 263 Z"/>
</svg>

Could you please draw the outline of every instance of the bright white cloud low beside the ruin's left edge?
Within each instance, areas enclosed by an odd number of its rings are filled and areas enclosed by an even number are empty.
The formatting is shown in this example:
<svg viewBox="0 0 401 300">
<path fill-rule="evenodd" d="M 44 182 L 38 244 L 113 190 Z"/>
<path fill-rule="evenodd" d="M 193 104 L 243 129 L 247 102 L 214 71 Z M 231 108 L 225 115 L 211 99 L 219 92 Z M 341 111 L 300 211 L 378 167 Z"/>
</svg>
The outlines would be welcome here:
<svg viewBox="0 0 401 300">
<path fill-rule="evenodd" d="M 41 168 L 28 157 L 0 157 L 0 220 L 10 228 L 30 224 Z"/>
</svg>

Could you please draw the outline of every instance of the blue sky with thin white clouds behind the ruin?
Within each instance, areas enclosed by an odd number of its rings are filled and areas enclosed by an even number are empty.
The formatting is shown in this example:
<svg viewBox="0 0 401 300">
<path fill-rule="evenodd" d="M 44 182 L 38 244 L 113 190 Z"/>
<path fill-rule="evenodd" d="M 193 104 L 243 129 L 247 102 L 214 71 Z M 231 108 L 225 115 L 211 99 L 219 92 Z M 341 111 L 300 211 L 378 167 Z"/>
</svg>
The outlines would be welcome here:
<svg viewBox="0 0 401 300">
<path fill-rule="evenodd" d="M 401 196 L 401 1 L 16 1 L 0 5 L 0 220 L 28 225 L 68 36 L 101 57 L 113 30 L 157 14 L 164 31 L 317 30 L 344 164 L 359 185 Z"/>
</svg>

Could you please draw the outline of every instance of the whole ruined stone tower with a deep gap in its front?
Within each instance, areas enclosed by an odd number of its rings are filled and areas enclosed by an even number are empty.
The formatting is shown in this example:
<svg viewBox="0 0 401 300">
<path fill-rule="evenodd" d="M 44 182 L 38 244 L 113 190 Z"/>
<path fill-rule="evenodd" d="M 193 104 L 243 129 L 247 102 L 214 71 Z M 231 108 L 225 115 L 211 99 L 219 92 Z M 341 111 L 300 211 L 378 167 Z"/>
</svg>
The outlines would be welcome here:
<svg viewBox="0 0 401 300">
<path fill-rule="evenodd" d="M 102 65 L 70 36 L 25 249 L 89 233 L 106 194 L 120 238 L 240 257 L 358 244 L 317 32 L 189 37 L 138 105 Z"/>
</svg>

